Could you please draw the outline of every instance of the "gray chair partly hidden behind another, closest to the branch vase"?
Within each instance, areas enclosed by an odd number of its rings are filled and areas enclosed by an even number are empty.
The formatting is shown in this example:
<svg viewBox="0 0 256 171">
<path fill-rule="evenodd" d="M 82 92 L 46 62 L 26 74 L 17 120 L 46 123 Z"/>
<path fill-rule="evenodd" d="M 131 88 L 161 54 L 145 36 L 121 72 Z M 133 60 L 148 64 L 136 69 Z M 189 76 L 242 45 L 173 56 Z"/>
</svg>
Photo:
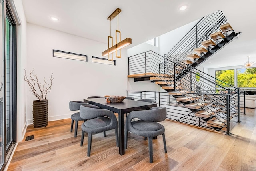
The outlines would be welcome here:
<svg viewBox="0 0 256 171">
<path fill-rule="evenodd" d="M 71 111 L 76 111 L 76 110 L 79 110 L 80 105 L 85 105 L 85 104 L 87 104 L 87 103 L 84 103 L 83 101 L 70 101 L 70 102 L 69 102 L 69 109 L 70 109 Z M 72 115 L 71 115 L 71 119 L 72 119 L 72 120 L 71 120 L 71 130 L 70 130 L 70 132 L 73 131 L 74 121 L 76 121 L 76 123 L 75 123 L 75 137 L 76 137 L 76 135 L 77 135 L 78 121 L 86 121 L 86 119 L 82 119 L 82 118 L 80 117 L 79 111 L 76 112 L 76 113 L 74 113 L 74 114 L 72 114 Z"/>
</svg>

